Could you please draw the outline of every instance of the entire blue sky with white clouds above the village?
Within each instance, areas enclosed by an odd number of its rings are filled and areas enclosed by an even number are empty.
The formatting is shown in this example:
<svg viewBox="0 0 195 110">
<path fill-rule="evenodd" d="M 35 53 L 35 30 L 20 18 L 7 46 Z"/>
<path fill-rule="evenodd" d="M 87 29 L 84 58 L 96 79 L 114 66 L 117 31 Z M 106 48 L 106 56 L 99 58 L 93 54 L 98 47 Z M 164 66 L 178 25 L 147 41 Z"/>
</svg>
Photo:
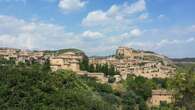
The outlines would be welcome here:
<svg viewBox="0 0 195 110">
<path fill-rule="evenodd" d="M 195 57 L 195 0 L 0 0 L 0 47 Z"/>
</svg>

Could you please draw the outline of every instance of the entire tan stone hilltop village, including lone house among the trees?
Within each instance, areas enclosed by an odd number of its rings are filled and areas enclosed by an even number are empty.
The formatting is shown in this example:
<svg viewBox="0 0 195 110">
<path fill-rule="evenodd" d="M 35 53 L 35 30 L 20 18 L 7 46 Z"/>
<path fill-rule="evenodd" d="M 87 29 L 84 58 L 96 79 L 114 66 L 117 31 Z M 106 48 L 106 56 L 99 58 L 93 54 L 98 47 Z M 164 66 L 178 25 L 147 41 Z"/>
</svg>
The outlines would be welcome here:
<svg viewBox="0 0 195 110">
<path fill-rule="evenodd" d="M 85 58 L 90 65 L 107 64 L 113 66 L 119 74 L 114 75 L 114 83 L 125 80 L 128 75 L 151 78 L 168 78 L 175 74 L 175 67 L 165 56 L 150 51 L 134 50 L 128 47 L 119 47 L 116 54 L 107 57 L 87 57 L 82 52 L 65 51 L 27 51 L 20 49 L 1 48 L 0 57 L 20 62 L 38 62 L 40 64 L 48 61 L 52 71 L 60 69 L 72 70 L 78 75 L 92 77 L 100 83 L 108 83 L 109 76 L 103 72 L 88 72 L 80 69 L 80 62 Z M 161 101 L 171 102 L 172 94 L 166 90 L 153 90 L 152 97 L 148 103 L 152 106 L 160 105 Z"/>
</svg>

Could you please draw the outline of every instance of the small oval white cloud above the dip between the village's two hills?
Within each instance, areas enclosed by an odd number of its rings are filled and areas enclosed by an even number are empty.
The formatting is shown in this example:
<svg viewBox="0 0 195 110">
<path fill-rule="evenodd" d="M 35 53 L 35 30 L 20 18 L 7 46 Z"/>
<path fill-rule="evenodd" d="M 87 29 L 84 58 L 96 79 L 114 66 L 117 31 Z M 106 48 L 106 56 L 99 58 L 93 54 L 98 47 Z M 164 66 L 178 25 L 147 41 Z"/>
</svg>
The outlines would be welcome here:
<svg viewBox="0 0 195 110">
<path fill-rule="evenodd" d="M 97 39 L 103 36 L 102 33 L 100 32 L 92 32 L 92 31 L 85 31 L 82 33 L 82 36 L 86 37 L 86 38 L 90 38 L 90 39 Z"/>
</svg>

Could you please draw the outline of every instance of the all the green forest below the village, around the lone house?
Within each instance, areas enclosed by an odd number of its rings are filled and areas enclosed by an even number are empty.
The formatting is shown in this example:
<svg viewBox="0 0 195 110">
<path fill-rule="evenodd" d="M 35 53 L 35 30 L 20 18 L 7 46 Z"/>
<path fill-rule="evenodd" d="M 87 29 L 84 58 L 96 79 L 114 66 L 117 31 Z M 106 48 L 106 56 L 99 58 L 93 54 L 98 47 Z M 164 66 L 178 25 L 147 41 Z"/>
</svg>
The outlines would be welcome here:
<svg viewBox="0 0 195 110">
<path fill-rule="evenodd" d="M 100 84 L 72 71 L 52 72 L 47 62 L 44 65 L 16 65 L 12 60 L 0 59 L 0 109 L 194 110 L 194 65 L 190 68 L 181 66 L 179 71 L 186 74 L 178 73 L 170 79 L 128 76 L 113 89 L 111 84 Z M 146 101 L 151 97 L 152 89 L 158 88 L 174 91 L 174 103 L 149 108 Z"/>
</svg>

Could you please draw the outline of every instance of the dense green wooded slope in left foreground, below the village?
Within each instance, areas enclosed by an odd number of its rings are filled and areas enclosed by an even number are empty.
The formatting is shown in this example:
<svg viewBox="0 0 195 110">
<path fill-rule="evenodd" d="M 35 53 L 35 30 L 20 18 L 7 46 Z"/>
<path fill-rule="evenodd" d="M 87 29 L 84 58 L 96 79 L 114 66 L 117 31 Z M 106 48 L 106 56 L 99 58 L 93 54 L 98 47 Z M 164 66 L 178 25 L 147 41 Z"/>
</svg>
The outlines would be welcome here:
<svg viewBox="0 0 195 110">
<path fill-rule="evenodd" d="M 117 104 L 100 95 L 109 96 L 110 86 L 74 72 L 52 73 L 46 65 L 37 64 L 6 64 L 0 69 L 1 110 L 116 110 Z"/>
</svg>

